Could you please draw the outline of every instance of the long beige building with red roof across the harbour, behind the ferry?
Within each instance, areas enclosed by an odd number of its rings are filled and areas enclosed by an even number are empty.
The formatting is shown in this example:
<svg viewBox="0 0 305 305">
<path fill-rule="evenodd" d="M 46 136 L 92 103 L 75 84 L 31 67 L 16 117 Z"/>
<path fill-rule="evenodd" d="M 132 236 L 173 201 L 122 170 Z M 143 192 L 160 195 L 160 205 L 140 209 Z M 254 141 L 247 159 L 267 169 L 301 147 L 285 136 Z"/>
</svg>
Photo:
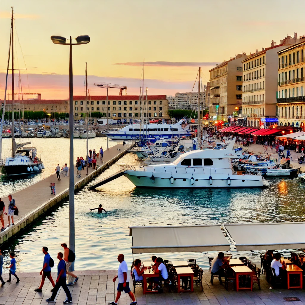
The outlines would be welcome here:
<svg viewBox="0 0 305 305">
<path fill-rule="evenodd" d="M 168 101 L 166 95 L 148 95 L 140 102 L 138 95 L 109 95 L 106 105 L 106 95 L 91 95 L 86 103 L 86 96 L 73 96 L 74 118 L 83 117 L 87 111 L 108 113 L 111 119 L 124 122 L 148 119 L 168 119 Z M 146 116 L 147 113 L 147 116 Z"/>
</svg>

